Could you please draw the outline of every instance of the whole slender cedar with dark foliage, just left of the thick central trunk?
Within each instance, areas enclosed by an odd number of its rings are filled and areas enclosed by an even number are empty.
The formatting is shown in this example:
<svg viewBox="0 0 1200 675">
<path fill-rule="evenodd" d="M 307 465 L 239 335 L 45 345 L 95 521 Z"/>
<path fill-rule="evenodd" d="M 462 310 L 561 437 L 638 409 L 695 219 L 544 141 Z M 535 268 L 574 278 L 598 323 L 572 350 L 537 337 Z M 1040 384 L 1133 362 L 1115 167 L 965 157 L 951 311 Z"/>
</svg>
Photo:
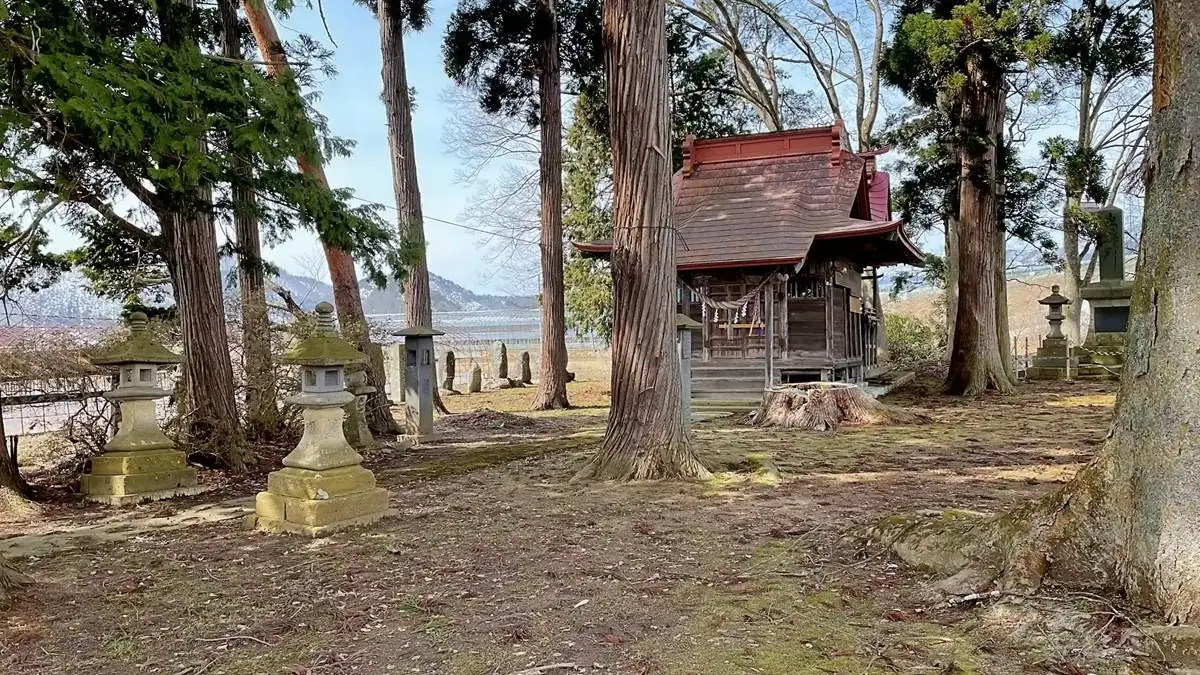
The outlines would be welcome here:
<svg viewBox="0 0 1200 675">
<path fill-rule="evenodd" d="M 563 104 L 556 0 L 464 0 L 450 17 L 446 73 L 479 91 L 490 114 L 521 115 L 541 133 L 541 366 L 534 410 L 570 407 L 563 305 Z"/>
</svg>

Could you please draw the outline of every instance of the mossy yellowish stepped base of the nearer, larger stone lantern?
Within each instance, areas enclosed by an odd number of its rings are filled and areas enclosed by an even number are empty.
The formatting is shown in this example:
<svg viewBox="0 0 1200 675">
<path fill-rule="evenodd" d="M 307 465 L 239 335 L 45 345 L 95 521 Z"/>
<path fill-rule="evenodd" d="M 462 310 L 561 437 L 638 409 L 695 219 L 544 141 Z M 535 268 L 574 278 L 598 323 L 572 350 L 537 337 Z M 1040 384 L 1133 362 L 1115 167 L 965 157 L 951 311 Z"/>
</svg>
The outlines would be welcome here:
<svg viewBox="0 0 1200 675">
<path fill-rule="evenodd" d="M 389 513 L 388 490 L 361 466 L 324 471 L 287 467 L 271 472 L 254 500 L 246 528 L 324 537 L 376 522 Z"/>
</svg>

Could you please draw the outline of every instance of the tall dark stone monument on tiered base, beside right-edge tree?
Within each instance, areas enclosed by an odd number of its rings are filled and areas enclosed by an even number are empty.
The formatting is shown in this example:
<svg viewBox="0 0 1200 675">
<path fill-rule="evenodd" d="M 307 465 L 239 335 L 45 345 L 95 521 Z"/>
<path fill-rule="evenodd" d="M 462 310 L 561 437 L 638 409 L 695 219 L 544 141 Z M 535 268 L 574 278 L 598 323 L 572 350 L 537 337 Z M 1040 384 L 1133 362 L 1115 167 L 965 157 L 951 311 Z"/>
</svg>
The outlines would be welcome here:
<svg viewBox="0 0 1200 675">
<path fill-rule="evenodd" d="M 1086 207 L 1085 207 L 1086 208 Z M 1124 277 L 1124 217 L 1116 207 L 1087 208 L 1096 217 L 1100 279 L 1080 288 L 1092 321 L 1078 347 L 1081 378 L 1118 380 L 1124 366 L 1126 330 L 1133 281 Z"/>
</svg>

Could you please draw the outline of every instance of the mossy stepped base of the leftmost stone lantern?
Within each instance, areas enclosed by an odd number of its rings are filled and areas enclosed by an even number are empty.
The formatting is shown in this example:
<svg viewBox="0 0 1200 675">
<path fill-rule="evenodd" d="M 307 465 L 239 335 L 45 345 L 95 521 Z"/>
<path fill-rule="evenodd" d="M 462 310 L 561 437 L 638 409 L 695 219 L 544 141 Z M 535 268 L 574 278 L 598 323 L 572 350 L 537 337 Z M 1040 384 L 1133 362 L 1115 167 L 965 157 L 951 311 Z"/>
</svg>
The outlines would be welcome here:
<svg viewBox="0 0 1200 675">
<path fill-rule="evenodd" d="M 79 491 L 90 502 L 127 506 L 196 495 L 196 470 L 181 450 L 102 453 L 79 478 Z"/>
</svg>

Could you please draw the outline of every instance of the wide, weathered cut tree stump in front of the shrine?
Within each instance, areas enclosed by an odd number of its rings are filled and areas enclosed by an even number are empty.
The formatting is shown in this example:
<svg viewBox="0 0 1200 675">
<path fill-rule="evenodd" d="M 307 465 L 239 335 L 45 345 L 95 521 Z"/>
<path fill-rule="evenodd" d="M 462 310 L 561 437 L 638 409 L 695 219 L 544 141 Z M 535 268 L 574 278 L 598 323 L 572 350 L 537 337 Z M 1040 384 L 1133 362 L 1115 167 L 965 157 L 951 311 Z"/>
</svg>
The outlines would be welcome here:
<svg viewBox="0 0 1200 675">
<path fill-rule="evenodd" d="M 758 410 L 751 413 L 755 426 L 785 426 L 833 431 L 839 426 L 865 424 L 923 424 L 928 416 L 881 404 L 857 384 L 805 382 L 781 384 L 762 394 Z"/>
</svg>

